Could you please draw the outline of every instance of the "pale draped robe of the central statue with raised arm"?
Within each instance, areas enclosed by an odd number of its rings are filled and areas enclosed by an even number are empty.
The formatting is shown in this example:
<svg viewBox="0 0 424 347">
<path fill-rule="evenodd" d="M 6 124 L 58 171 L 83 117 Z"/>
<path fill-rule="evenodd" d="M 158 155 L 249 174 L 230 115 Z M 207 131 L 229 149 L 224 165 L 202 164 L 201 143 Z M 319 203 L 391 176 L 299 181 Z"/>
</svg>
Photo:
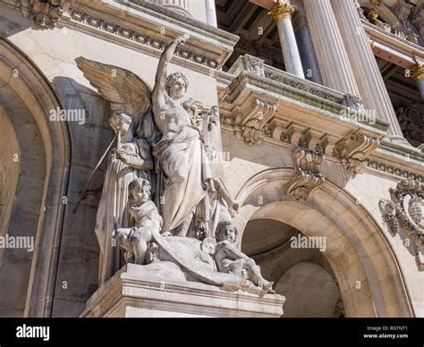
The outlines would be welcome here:
<svg viewBox="0 0 424 347">
<path fill-rule="evenodd" d="M 231 220 L 225 202 L 216 193 L 216 179 L 199 131 L 185 126 L 171 139 L 153 146 L 157 169 L 157 207 L 164 219 L 163 233 L 190 236 L 193 224 L 216 224 Z M 192 235 L 194 236 L 194 235 Z"/>
</svg>

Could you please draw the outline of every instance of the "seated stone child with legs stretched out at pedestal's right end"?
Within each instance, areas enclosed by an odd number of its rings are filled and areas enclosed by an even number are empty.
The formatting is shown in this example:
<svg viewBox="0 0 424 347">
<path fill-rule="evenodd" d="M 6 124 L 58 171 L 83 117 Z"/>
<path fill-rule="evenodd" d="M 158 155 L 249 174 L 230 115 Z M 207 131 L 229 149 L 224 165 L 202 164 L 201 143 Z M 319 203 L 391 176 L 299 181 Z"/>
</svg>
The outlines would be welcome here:
<svg viewBox="0 0 424 347">
<path fill-rule="evenodd" d="M 217 225 L 215 261 L 218 271 L 234 275 L 245 275 L 264 292 L 275 293 L 272 289 L 274 283 L 268 282 L 262 277 L 260 268 L 256 265 L 255 260 L 233 246 L 236 240 L 237 229 L 233 222 L 220 222 Z"/>
</svg>

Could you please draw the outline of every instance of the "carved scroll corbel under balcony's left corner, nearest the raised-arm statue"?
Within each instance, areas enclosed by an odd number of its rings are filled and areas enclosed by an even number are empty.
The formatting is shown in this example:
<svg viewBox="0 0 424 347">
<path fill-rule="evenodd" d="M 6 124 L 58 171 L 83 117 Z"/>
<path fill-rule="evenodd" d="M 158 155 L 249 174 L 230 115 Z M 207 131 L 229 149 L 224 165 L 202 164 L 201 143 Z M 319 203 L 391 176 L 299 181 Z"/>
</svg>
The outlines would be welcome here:
<svg viewBox="0 0 424 347">
<path fill-rule="evenodd" d="M 244 111 L 248 111 L 244 109 Z M 248 146 L 259 143 L 266 136 L 264 128 L 276 115 L 276 106 L 267 101 L 255 98 L 253 106 L 249 108 L 249 114 L 237 117 L 238 122 L 234 126 L 235 136 L 243 140 Z"/>
</svg>

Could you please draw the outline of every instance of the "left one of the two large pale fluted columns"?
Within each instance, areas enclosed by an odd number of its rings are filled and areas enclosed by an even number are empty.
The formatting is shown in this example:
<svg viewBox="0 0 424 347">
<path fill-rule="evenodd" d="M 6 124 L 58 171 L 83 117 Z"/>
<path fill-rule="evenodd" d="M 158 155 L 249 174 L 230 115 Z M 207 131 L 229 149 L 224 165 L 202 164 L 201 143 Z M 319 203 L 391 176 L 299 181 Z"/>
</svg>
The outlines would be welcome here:
<svg viewBox="0 0 424 347">
<path fill-rule="evenodd" d="M 304 0 L 303 6 L 324 85 L 360 96 L 330 0 Z"/>
</svg>

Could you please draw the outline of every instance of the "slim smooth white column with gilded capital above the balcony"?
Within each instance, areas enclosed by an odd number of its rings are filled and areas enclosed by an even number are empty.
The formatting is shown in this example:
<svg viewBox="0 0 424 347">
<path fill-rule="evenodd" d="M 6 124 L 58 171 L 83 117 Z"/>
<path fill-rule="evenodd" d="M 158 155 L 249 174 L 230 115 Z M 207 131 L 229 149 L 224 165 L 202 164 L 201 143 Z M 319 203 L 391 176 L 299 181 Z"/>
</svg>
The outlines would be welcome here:
<svg viewBox="0 0 424 347">
<path fill-rule="evenodd" d="M 301 55 L 299 55 L 293 31 L 293 13 L 294 6 L 284 3 L 283 0 L 278 0 L 278 4 L 268 14 L 276 21 L 281 48 L 283 49 L 285 70 L 304 79 Z"/>
</svg>

